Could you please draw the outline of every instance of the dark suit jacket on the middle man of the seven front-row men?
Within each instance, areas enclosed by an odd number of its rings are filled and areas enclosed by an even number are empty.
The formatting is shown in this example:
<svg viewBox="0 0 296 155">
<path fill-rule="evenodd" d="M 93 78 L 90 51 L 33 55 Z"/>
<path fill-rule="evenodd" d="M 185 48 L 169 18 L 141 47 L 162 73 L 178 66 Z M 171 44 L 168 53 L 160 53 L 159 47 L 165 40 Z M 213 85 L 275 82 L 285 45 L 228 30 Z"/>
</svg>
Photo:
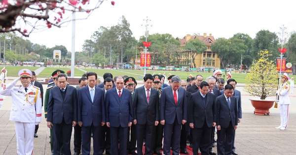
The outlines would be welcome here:
<svg viewBox="0 0 296 155">
<path fill-rule="evenodd" d="M 137 120 L 137 124 L 154 125 L 155 121 L 159 121 L 158 91 L 151 88 L 148 103 L 145 87 L 137 88 L 134 94 L 133 109 L 134 120 Z"/>
</svg>

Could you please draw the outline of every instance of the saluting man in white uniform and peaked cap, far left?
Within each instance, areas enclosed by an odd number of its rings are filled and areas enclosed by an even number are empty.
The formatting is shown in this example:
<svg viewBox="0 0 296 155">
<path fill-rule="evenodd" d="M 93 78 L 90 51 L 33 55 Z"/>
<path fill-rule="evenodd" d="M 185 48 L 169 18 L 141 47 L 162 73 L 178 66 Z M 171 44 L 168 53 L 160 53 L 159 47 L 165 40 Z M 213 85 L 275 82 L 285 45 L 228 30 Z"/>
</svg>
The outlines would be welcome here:
<svg viewBox="0 0 296 155">
<path fill-rule="evenodd" d="M 17 155 L 32 155 L 35 125 L 41 122 L 41 93 L 38 87 L 30 85 L 30 69 L 21 69 L 18 75 L 0 94 L 12 97 L 9 120 L 15 121 Z M 18 80 L 21 85 L 16 85 Z"/>
</svg>

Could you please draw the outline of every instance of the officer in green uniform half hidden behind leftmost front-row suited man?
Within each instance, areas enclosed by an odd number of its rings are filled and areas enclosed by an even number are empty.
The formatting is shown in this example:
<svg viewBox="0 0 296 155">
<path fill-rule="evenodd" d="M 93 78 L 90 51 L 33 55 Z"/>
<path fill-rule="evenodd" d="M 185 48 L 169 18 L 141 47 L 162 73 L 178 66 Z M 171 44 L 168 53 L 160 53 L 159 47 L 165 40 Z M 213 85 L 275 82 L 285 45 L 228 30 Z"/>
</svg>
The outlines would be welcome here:
<svg viewBox="0 0 296 155">
<path fill-rule="evenodd" d="M 45 117 L 46 121 L 47 121 L 47 105 L 48 105 L 48 98 L 49 98 L 49 94 L 50 94 L 50 89 L 54 88 L 57 85 L 57 82 L 58 82 L 57 81 L 57 76 L 60 73 L 65 73 L 65 72 L 63 70 L 59 70 L 59 69 L 55 70 L 51 74 L 51 76 L 53 77 L 53 81 L 49 82 L 48 85 L 47 85 L 47 89 L 46 89 L 45 97 L 44 97 L 44 117 Z M 51 153 L 53 155 L 53 134 L 52 134 L 52 129 L 50 129 L 50 150 L 51 150 Z"/>
</svg>

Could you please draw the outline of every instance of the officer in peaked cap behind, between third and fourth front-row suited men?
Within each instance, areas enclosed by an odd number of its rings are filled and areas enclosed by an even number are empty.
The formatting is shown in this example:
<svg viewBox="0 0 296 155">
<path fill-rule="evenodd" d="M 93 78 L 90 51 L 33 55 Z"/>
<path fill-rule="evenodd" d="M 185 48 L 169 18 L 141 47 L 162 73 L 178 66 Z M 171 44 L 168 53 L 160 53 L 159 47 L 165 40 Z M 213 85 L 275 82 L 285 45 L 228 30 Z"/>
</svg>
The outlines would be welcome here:
<svg viewBox="0 0 296 155">
<path fill-rule="evenodd" d="M 131 93 L 132 93 L 132 100 L 134 100 L 134 95 L 135 95 L 135 85 L 136 83 L 136 79 L 133 78 L 133 77 L 127 77 L 125 80 L 124 80 L 124 85 L 125 85 L 125 88 L 130 90 Z M 127 128 L 127 152 L 128 154 L 130 155 L 137 155 L 137 153 L 135 152 L 136 151 L 136 141 L 137 141 L 137 132 L 136 132 L 136 125 L 135 124 L 132 124 L 131 127 L 128 127 Z M 131 136 L 130 136 L 130 133 L 131 133 Z M 131 137 L 129 139 L 129 137 Z"/>
</svg>

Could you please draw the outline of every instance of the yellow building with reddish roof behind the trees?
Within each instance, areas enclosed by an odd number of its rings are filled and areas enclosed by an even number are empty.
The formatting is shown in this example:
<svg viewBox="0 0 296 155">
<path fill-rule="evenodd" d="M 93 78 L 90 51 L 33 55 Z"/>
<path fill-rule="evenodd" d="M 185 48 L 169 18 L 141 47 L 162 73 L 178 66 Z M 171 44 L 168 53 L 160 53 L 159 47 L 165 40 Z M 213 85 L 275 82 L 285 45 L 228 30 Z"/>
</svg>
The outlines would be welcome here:
<svg viewBox="0 0 296 155">
<path fill-rule="evenodd" d="M 207 36 L 207 33 L 204 33 L 203 35 L 190 35 L 187 34 L 182 39 L 179 39 L 181 42 L 181 47 L 185 46 L 186 43 L 189 40 L 192 39 L 199 39 L 201 42 L 205 43 L 207 49 L 201 54 L 197 54 L 195 56 L 195 68 L 220 68 L 220 59 L 218 58 L 216 53 L 213 53 L 211 50 L 212 43 L 215 42 L 214 36 L 210 33 L 209 36 Z M 185 54 L 181 58 L 181 65 L 189 64 L 190 66 L 190 60 L 191 60 L 191 51 L 184 51 Z M 194 68 L 192 62 L 192 68 Z"/>
</svg>

